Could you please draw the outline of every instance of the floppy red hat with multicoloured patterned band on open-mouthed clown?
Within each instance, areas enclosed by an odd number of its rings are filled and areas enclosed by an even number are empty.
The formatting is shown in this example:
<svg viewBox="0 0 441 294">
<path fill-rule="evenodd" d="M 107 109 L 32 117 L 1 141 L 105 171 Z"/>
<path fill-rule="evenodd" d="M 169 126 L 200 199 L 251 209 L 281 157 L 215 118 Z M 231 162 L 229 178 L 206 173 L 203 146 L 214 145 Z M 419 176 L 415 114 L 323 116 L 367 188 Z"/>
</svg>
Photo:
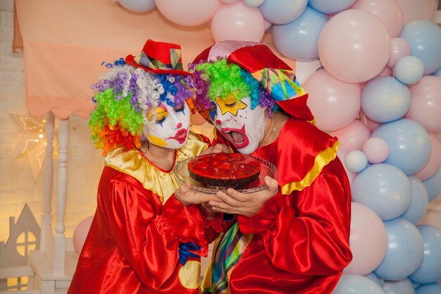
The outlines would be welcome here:
<svg viewBox="0 0 441 294">
<path fill-rule="evenodd" d="M 222 41 L 202 51 L 193 63 L 219 59 L 226 59 L 250 73 L 290 116 L 313 121 L 311 110 L 306 105 L 308 94 L 297 82 L 292 68 L 268 46 L 255 42 Z"/>
</svg>

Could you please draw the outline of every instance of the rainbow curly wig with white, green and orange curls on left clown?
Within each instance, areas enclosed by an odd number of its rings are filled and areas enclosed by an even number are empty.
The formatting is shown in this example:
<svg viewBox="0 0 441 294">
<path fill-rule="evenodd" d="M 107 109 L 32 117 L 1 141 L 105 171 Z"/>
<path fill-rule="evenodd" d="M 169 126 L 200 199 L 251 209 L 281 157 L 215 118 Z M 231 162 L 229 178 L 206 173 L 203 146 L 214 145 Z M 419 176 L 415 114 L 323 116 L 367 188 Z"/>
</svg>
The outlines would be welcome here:
<svg viewBox="0 0 441 294">
<path fill-rule="evenodd" d="M 89 116 L 89 129 L 94 146 L 103 149 L 103 156 L 116 148 L 141 147 L 147 140 L 143 129 L 156 123 L 155 118 L 147 118 L 149 111 L 160 102 L 170 106 L 187 102 L 192 108 L 191 75 L 147 73 L 125 63 L 110 68 L 91 87 L 96 106 Z"/>
</svg>

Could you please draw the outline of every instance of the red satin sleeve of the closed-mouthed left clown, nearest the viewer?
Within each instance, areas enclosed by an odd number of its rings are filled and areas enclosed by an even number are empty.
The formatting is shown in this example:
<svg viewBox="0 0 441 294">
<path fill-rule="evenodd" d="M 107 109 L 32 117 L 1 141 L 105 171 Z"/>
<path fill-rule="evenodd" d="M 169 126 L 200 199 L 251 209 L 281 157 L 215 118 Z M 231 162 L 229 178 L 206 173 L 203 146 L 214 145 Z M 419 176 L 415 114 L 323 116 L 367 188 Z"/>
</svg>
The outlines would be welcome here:
<svg viewBox="0 0 441 294">
<path fill-rule="evenodd" d="M 108 178 L 100 183 L 99 206 L 113 238 L 139 280 L 148 288 L 161 288 L 181 267 L 180 243 L 193 242 L 206 252 L 201 216 L 173 195 L 162 206 L 159 197 L 135 178 L 107 169 Z"/>
</svg>

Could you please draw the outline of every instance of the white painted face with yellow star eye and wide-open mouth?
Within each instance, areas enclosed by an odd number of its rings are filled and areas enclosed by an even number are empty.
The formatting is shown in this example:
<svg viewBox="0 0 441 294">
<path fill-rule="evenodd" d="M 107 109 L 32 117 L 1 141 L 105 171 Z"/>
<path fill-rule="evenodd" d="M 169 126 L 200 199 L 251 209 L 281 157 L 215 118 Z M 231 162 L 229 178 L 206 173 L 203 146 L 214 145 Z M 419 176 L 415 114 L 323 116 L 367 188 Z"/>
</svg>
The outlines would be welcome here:
<svg viewBox="0 0 441 294">
<path fill-rule="evenodd" d="M 258 105 L 251 109 L 251 98 L 240 101 L 216 99 L 216 111 L 210 109 L 211 121 L 232 143 L 238 152 L 256 151 L 265 135 L 265 109 Z"/>
</svg>

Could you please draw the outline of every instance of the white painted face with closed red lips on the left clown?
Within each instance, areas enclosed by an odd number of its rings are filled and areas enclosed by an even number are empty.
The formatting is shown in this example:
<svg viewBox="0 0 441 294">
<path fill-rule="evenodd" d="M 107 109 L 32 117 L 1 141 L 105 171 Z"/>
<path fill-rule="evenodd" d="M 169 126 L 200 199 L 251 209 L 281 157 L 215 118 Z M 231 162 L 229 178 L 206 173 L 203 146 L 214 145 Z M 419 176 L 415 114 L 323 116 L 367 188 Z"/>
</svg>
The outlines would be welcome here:
<svg viewBox="0 0 441 294">
<path fill-rule="evenodd" d="M 190 128 L 190 108 L 187 103 L 173 107 L 161 102 L 149 115 L 151 119 L 155 117 L 156 124 L 146 132 L 149 142 L 170 149 L 178 149 L 187 143 Z"/>
</svg>

